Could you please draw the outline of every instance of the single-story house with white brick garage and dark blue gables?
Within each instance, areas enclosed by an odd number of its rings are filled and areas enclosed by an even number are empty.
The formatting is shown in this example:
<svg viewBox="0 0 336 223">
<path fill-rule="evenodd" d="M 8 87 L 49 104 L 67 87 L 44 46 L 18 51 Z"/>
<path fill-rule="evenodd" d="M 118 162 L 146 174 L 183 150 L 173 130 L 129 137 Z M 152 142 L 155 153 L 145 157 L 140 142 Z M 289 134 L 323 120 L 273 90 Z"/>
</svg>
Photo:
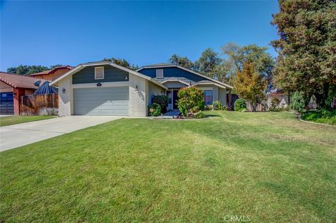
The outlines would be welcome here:
<svg viewBox="0 0 336 223">
<path fill-rule="evenodd" d="M 169 108 L 181 87 L 204 89 L 205 102 L 226 103 L 230 85 L 213 80 L 195 71 L 172 64 L 155 64 L 138 71 L 111 62 L 80 64 L 50 85 L 59 89 L 59 116 L 125 115 L 144 117 L 153 95 L 169 96 Z"/>
</svg>

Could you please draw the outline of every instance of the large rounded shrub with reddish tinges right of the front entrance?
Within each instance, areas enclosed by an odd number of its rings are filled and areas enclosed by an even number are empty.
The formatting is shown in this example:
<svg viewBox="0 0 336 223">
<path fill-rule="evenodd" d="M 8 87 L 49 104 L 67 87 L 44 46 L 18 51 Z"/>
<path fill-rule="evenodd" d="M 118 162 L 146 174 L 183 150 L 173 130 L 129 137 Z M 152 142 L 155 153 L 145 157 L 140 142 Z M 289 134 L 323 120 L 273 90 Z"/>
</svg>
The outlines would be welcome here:
<svg viewBox="0 0 336 223">
<path fill-rule="evenodd" d="M 183 116 L 189 117 L 191 113 L 197 113 L 204 106 L 202 89 L 197 87 L 183 87 L 177 93 L 179 101 L 177 106 Z"/>
</svg>

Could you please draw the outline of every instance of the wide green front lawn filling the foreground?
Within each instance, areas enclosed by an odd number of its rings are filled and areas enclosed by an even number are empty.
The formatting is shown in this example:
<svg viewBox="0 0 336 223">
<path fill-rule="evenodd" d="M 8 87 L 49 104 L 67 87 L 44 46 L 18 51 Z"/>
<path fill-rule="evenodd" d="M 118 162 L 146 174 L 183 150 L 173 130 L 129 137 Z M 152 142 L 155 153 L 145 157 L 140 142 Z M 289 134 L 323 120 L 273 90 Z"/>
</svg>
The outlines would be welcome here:
<svg viewBox="0 0 336 223">
<path fill-rule="evenodd" d="M 0 153 L 0 222 L 336 222 L 336 128 L 122 119 Z"/>
</svg>

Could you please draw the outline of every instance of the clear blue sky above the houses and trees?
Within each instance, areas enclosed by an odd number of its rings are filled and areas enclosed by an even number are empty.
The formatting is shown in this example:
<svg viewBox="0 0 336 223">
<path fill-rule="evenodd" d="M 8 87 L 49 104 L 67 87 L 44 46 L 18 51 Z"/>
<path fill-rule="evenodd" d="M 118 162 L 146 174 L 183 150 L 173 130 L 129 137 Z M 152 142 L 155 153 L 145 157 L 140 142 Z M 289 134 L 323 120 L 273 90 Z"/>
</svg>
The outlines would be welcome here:
<svg viewBox="0 0 336 223">
<path fill-rule="evenodd" d="M 2 1 L 0 70 L 104 57 L 143 66 L 228 42 L 268 45 L 276 1 Z"/>
</svg>

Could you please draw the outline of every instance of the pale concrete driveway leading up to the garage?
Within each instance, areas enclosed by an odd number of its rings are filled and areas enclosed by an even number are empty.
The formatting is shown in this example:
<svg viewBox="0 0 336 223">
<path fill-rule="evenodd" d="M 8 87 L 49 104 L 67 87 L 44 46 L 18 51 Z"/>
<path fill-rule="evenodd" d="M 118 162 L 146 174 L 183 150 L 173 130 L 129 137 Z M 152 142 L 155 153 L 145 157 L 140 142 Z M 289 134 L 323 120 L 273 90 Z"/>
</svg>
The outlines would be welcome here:
<svg viewBox="0 0 336 223">
<path fill-rule="evenodd" d="M 0 127 L 0 151 L 10 150 L 47 138 L 85 129 L 104 122 L 118 120 L 120 116 L 67 116 Z"/>
</svg>

